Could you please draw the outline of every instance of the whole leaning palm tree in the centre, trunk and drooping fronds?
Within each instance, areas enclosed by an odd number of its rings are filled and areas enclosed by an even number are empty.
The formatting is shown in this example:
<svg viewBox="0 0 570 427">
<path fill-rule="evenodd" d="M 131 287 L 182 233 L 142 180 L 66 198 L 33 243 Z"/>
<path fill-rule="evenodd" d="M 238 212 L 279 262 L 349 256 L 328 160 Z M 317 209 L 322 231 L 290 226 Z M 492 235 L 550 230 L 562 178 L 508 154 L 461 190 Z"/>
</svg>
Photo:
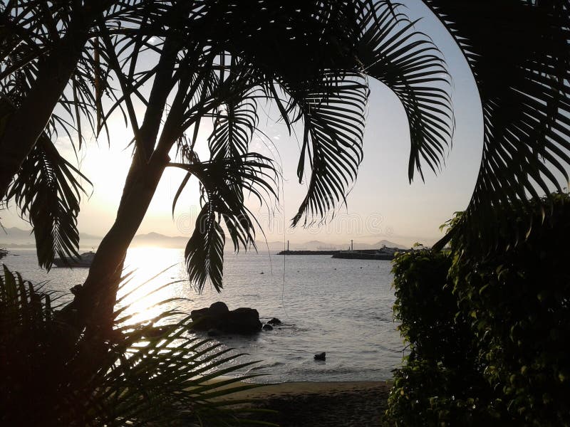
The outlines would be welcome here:
<svg viewBox="0 0 570 427">
<path fill-rule="evenodd" d="M 131 116 L 136 145 L 117 218 L 68 307 L 95 328 L 112 312 L 115 278 L 166 167 L 187 172 L 177 196 L 190 176 L 201 184 L 202 211 L 185 251 L 197 288 L 208 278 L 222 288 L 222 224 L 235 250 L 255 245 L 254 218 L 244 207 L 244 191 L 264 201 L 276 196 L 278 178 L 270 159 L 249 152 L 261 100 L 275 102 L 287 126 L 304 124 L 298 175 L 301 179 L 309 165 L 311 178 L 294 225 L 326 216 L 356 178 L 367 75 L 393 88 L 415 118 L 411 169 L 421 170 L 420 157 L 442 154 L 451 135 L 449 98 L 440 87 L 447 75 L 437 49 L 386 1 L 172 7 L 184 19 L 180 26 L 172 23 L 161 38 L 142 123 Z M 110 47 L 110 35 L 105 28 L 100 32 Z M 105 60 L 118 76 L 140 68 L 130 56 Z M 424 87 L 425 82 L 432 87 Z M 200 162 L 194 147 L 206 119 L 214 120 L 208 139 L 211 157 Z M 174 148 L 178 159 L 171 162 Z M 439 161 L 429 162 L 435 168 Z"/>
</svg>

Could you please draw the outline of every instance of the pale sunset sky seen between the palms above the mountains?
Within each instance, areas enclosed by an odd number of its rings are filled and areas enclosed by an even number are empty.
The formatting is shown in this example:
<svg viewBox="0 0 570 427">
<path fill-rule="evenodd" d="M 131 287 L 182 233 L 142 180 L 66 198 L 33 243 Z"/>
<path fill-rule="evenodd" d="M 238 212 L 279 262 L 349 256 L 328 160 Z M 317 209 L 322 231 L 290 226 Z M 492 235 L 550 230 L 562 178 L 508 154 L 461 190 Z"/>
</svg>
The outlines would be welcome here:
<svg viewBox="0 0 570 427">
<path fill-rule="evenodd" d="M 482 115 L 475 81 L 459 49 L 435 17 L 430 16 L 420 1 L 405 3 L 409 6 L 410 18 L 424 16 L 416 27 L 431 36 L 440 47 L 452 76 L 455 135 L 452 148 L 445 157 L 445 166 L 437 175 L 425 167 L 425 183 L 416 174 L 415 181 L 409 184 L 410 136 L 405 112 L 388 88 L 371 80 L 364 159 L 346 206 L 338 209 L 335 218 L 324 225 L 291 228 L 291 218 L 306 191 L 306 184 L 299 184 L 296 178 L 299 142 L 294 135 L 288 134 L 283 124 L 262 120 L 260 128 L 266 136 L 258 135 L 254 139 L 253 151 L 274 154 L 271 149 L 274 144 L 283 170 L 279 204 L 272 206 L 271 211 L 250 205 L 268 241 L 301 243 L 318 240 L 342 244 L 351 239 L 363 243 L 388 239 L 405 245 L 416 241 L 432 244 L 442 236 L 439 226 L 455 211 L 467 207 L 482 155 Z M 269 115 L 271 108 L 276 110 L 266 105 Z M 302 132 L 298 135 L 302 136 Z M 199 152 L 205 153 L 206 137 L 207 132 L 200 135 Z M 93 181 L 90 196 L 84 197 L 81 203 L 78 226 L 82 233 L 104 236 L 113 224 L 130 164 L 130 149 L 125 148 L 129 139 L 130 131 L 120 117 L 113 117 L 110 122 L 110 144 L 90 139 L 78 160 L 71 144 L 63 137 L 58 139 L 58 149 L 68 159 L 78 162 L 81 171 Z M 195 179 L 185 189 L 174 216 L 171 211 L 172 197 L 183 176 L 183 172 L 167 169 L 139 233 L 154 231 L 167 236 L 190 237 L 199 211 Z M 3 211 L 1 218 L 6 228 L 30 228 L 18 218 L 14 209 Z M 258 237 L 259 240 L 263 238 L 261 233 Z"/>
</svg>

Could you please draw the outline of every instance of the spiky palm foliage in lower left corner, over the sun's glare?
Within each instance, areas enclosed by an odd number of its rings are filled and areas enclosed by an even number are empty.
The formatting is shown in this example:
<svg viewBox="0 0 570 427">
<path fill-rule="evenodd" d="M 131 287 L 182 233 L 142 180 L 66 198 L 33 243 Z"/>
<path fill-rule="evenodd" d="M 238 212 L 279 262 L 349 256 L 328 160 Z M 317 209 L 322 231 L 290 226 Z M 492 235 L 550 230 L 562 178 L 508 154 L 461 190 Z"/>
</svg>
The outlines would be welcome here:
<svg viewBox="0 0 570 427">
<path fill-rule="evenodd" d="M 220 379 L 248 364 L 167 311 L 140 324 L 127 305 L 104 339 L 61 322 L 43 292 L 0 275 L 0 423 L 6 426 L 214 426 L 248 423 L 224 401 L 253 384 Z M 158 305 L 162 305 L 160 302 Z M 179 319 L 179 320 L 176 320 Z M 228 387 L 229 389 L 224 389 Z M 235 401 L 235 403 L 243 403 Z M 254 423 L 254 421 L 251 421 Z"/>
</svg>

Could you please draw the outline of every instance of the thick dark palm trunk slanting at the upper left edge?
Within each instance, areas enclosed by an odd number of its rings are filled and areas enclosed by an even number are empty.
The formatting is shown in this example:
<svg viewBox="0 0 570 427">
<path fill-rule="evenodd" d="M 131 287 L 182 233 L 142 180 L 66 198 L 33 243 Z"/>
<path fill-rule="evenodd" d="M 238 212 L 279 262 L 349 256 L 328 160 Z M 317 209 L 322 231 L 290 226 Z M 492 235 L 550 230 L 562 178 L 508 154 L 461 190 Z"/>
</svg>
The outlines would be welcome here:
<svg viewBox="0 0 570 427">
<path fill-rule="evenodd" d="M 46 128 L 53 109 L 76 68 L 86 38 L 73 32 L 65 36 L 38 65 L 38 78 L 24 95 L 21 106 L 5 122 L 0 135 L 0 199 L 11 179 Z"/>
</svg>

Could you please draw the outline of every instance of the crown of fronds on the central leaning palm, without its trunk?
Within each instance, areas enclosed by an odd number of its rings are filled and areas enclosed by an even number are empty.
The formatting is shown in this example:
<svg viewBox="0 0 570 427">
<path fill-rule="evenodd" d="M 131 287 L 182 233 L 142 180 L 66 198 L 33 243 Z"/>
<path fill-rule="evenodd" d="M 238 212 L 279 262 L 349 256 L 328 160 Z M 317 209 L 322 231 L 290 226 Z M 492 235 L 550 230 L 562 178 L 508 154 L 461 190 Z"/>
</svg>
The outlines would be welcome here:
<svg viewBox="0 0 570 427">
<path fill-rule="evenodd" d="M 173 102 L 169 117 L 175 119 L 174 105 L 179 105 L 177 114 L 182 120 L 172 132 L 180 135 L 188 130 L 193 137 L 177 140 L 182 159 L 169 166 L 191 172 L 208 189 L 202 176 L 189 169 L 197 163 L 193 149 L 203 119 L 214 118 L 208 138 L 212 160 L 225 157 L 238 162 L 246 155 L 258 156 L 249 149 L 254 135 L 259 134 L 259 116 L 264 112 L 261 100 L 274 102 L 277 118 L 290 132 L 294 125 L 301 127 L 297 175 L 299 181 L 307 180 L 308 189 L 292 223 L 306 225 L 326 221 L 336 204 L 345 201 L 356 179 L 369 95 L 367 76 L 378 78 L 398 93 L 414 125 L 419 127 L 420 119 L 427 120 L 430 115 L 440 127 L 441 131 L 427 126 L 423 132 L 413 132 L 413 164 L 418 169 L 420 157 L 430 156 L 426 154 L 432 150 L 430 144 L 445 146 L 450 141 L 450 99 L 445 96 L 447 75 L 437 48 L 430 41 L 420 40 L 423 35 L 414 30 L 405 15 L 395 13 L 395 6 L 388 1 L 291 1 L 280 9 L 277 12 L 271 4 L 260 1 L 247 7 L 225 4 L 224 9 L 210 11 L 208 6 L 201 10 L 199 19 L 208 21 L 208 34 L 216 36 L 201 41 L 206 47 L 200 50 L 180 53 L 183 63 L 199 65 L 187 80 L 178 80 L 180 104 Z M 210 21 L 214 13 L 223 19 Z M 199 38 L 199 33 L 188 36 Z M 166 43 L 167 39 L 162 49 Z M 304 63 L 302 73 L 298 67 L 291 67 L 299 61 Z M 126 68 L 126 63 L 122 66 Z M 425 67 L 423 73 L 418 73 L 419 67 Z M 185 93 L 188 90 L 191 96 Z M 154 149 L 155 153 L 160 151 L 160 142 Z M 275 182 L 269 172 L 257 176 L 264 179 L 255 182 L 260 187 Z M 230 187 L 239 203 L 243 203 L 243 191 L 251 190 L 243 182 L 247 180 Z M 200 221 L 186 251 L 190 278 L 197 288 L 202 288 L 207 279 L 215 288 L 222 288 L 225 233 L 219 227 L 222 221 L 214 221 L 215 217 L 224 217 L 230 235 L 232 229 L 241 228 L 233 224 L 246 225 L 243 228 L 247 233 L 237 235 L 246 238 L 232 236 L 234 249 L 247 248 L 254 242 L 254 228 L 247 226 L 254 223 L 249 212 L 220 210 L 219 203 L 211 200 L 213 194 L 207 191 L 203 198 Z M 254 195 L 259 198 L 257 191 Z M 268 195 L 276 196 L 276 191 L 268 191 Z M 208 226 L 200 227 L 200 223 Z M 206 254 L 213 255 L 208 262 L 204 262 Z"/>
</svg>

